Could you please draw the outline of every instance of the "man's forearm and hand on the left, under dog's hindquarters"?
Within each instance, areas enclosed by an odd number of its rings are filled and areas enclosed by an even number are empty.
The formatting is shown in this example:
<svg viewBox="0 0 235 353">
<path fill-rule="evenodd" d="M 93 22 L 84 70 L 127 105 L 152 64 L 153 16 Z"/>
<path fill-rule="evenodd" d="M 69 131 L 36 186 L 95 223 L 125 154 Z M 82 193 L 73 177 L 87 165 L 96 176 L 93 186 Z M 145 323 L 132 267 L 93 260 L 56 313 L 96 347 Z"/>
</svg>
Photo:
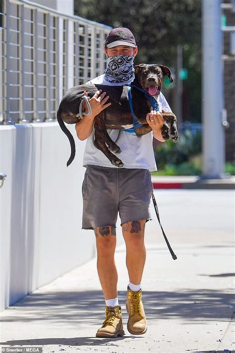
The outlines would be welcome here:
<svg viewBox="0 0 235 353">
<path fill-rule="evenodd" d="M 89 100 L 92 111 L 91 115 L 85 115 L 83 119 L 75 125 L 77 137 L 81 141 L 86 140 L 91 135 L 95 117 L 100 114 L 102 110 L 111 105 L 111 103 L 106 104 L 107 100 L 109 99 L 109 96 L 105 96 L 106 92 L 103 92 L 100 95 L 101 92 L 101 89 L 96 91 L 94 96 Z M 87 96 L 87 92 L 84 92 L 84 95 Z M 87 106 L 85 107 L 85 112 L 88 113 Z"/>
</svg>

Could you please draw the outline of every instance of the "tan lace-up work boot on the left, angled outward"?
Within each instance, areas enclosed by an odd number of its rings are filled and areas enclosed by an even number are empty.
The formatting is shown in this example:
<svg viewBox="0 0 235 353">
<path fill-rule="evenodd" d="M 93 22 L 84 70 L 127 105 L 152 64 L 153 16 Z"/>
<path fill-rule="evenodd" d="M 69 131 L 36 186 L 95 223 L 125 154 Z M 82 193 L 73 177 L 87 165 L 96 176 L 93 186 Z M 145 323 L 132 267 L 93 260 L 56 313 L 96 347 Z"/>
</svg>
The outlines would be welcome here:
<svg viewBox="0 0 235 353">
<path fill-rule="evenodd" d="M 105 307 L 106 319 L 102 327 L 97 331 L 96 337 L 117 337 L 123 336 L 122 321 L 121 321 L 121 307 L 106 306 Z"/>
</svg>

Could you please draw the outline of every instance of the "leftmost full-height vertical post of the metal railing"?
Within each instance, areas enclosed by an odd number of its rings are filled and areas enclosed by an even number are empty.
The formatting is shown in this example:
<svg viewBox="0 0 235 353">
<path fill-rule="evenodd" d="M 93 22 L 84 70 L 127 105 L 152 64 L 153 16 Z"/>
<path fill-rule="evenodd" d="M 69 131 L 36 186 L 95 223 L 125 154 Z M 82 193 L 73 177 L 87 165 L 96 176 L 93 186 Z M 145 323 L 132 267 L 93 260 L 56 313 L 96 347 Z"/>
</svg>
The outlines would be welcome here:
<svg viewBox="0 0 235 353">
<path fill-rule="evenodd" d="M 6 124 L 11 123 L 10 116 L 10 1 L 5 2 L 5 16 L 6 16 Z"/>
</svg>

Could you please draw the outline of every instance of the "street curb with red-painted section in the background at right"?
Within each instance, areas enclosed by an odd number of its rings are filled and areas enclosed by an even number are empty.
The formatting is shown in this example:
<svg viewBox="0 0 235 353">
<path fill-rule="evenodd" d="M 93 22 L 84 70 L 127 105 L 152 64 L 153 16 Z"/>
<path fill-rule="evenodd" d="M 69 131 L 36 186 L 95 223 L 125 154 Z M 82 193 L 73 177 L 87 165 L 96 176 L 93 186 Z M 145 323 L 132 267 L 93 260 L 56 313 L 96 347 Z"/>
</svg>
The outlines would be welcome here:
<svg viewBox="0 0 235 353">
<path fill-rule="evenodd" d="M 235 189 L 235 176 L 224 179 L 200 179 L 198 176 L 152 175 L 154 189 Z"/>
</svg>

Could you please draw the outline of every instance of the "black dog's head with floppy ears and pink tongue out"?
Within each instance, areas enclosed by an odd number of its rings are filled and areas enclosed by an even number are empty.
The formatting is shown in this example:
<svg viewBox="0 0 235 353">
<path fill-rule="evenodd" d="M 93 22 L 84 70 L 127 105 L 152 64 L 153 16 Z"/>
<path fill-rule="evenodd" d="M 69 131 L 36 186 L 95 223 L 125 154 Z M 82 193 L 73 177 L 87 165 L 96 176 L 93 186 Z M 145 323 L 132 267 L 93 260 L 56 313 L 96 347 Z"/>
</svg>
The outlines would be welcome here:
<svg viewBox="0 0 235 353">
<path fill-rule="evenodd" d="M 165 76 L 173 82 L 171 70 L 167 66 L 157 64 L 135 66 L 135 79 L 151 96 L 159 96 Z"/>
</svg>

